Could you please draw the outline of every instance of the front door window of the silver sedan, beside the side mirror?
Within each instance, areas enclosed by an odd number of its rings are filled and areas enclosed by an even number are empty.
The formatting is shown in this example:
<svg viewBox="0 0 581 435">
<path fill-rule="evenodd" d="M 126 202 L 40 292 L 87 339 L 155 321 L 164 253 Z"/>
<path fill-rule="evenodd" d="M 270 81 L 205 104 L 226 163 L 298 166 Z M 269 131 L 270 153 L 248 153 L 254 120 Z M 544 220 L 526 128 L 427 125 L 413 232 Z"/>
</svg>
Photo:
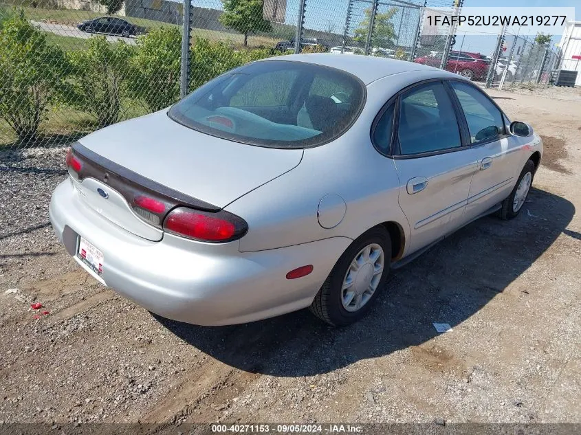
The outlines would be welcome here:
<svg viewBox="0 0 581 435">
<path fill-rule="evenodd" d="M 462 82 L 450 82 L 450 85 L 464 112 L 472 144 L 504 134 L 503 115 L 487 96 Z"/>
</svg>

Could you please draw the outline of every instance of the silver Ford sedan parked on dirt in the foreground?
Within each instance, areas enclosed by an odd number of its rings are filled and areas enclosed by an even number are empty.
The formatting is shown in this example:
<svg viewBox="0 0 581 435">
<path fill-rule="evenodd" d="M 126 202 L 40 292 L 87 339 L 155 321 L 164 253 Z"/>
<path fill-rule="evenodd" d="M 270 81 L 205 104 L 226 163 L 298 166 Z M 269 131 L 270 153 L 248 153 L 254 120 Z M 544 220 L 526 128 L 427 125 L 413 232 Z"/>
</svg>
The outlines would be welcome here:
<svg viewBox="0 0 581 435">
<path fill-rule="evenodd" d="M 342 325 L 391 269 L 480 216 L 517 216 L 541 155 L 457 74 L 279 56 L 81 138 L 50 221 L 89 274 L 158 315 L 222 325 L 310 306 Z"/>
</svg>

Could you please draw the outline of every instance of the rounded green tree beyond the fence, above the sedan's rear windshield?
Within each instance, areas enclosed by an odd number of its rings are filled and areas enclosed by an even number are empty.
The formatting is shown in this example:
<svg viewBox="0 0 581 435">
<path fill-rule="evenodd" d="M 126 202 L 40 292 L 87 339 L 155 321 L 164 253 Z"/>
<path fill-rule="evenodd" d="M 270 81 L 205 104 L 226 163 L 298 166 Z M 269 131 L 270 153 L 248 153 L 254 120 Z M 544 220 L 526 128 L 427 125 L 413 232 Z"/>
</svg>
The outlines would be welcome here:
<svg viewBox="0 0 581 435">
<path fill-rule="evenodd" d="M 244 35 L 244 46 L 248 35 L 256 32 L 272 32 L 270 21 L 263 19 L 263 0 L 223 0 L 224 12 L 220 23 Z"/>
</svg>

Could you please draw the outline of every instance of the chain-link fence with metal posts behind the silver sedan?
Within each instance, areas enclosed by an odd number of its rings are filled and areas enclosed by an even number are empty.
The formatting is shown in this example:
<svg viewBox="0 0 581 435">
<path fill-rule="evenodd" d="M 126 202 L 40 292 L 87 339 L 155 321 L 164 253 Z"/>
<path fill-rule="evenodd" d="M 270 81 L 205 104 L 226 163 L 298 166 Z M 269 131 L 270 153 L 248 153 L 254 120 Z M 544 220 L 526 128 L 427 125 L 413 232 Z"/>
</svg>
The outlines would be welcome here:
<svg viewBox="0 0 581 435">
<path fill-rule="evenodd" d="M 279 54 L 410 60 L 487 86 L 547 83 L 553 49 L 427 28 L 463 0 L 0 0 L 0 148 L 63 146 Z M 185 19 L 184 19 L 185 17 Z M 507 51 L 508 47 L 508 51 Z"/>
</svg>

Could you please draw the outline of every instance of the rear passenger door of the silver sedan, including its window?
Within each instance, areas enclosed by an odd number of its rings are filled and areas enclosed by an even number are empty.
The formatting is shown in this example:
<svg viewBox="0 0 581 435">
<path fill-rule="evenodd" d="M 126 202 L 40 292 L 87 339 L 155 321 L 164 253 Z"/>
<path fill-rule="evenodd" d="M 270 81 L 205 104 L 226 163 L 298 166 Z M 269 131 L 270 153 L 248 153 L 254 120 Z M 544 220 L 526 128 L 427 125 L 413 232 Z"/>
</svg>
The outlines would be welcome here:
<svg viewBox="0 0 581 435">
<path fill-rule="evenodd" d="M 409 254 L 462 225 L 476 161 L 463 146 L 459 110 L 443 82 L 409 89 L 397 106 L 393 157 L 411 230 Z"/>
</svg>

